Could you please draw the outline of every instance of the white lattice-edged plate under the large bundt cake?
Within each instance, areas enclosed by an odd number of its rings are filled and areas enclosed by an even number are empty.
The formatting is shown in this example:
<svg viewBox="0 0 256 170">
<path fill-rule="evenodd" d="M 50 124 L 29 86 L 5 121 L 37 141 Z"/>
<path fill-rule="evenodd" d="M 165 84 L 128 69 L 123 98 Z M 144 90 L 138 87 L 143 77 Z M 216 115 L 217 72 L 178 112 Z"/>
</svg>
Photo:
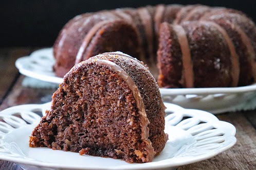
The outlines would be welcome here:
<svg viewBox="0 0 256 170">
<path fill-rule="evenodd" d="M 16 60 L 15 65 L 21 74 L 47 82 L 61 83 L 52 66 L 54 57 L 52 48 L 41 49 L 30 56 Z M 255 104 L 248 105 L 256 98 L 256 84 L 236 88 L 191 88 L 191 89 L 162 89 L 162 99 L 178 104 L 184 108 L 199 109 L 213 114 L 235 110 L 250 110 Z"/>
</svg>

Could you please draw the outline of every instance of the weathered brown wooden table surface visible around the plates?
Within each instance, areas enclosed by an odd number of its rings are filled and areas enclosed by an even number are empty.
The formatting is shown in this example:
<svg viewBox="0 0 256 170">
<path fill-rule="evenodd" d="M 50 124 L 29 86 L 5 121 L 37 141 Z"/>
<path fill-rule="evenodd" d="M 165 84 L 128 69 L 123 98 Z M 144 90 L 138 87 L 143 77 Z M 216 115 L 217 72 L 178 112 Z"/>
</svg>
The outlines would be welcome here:
<svg viewBox="0 0 256 170">
<path fill-rule="evenodd" d="M 34 89 L 22 86 L 24 76 L 15 68 L 15 60 L 29 55 L 36 48 L 0 49 L 0 111 L 19 104 L 50 101 L 55 89 Z M 256 169 L 256 111 L 217 115 L 218 119 L 236 127 L 236 144 L 213 158 L 178 167 L 185 169 Z M 0 160 L 0 169 L 22 169 L 19 164 Z"/>
</svg>

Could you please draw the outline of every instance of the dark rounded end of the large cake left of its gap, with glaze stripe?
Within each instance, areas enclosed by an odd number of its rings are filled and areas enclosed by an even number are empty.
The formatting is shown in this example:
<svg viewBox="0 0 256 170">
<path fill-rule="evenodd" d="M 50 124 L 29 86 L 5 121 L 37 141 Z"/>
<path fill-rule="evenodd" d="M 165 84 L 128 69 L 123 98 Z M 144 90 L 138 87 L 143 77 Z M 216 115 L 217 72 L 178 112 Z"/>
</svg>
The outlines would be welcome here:
<svg viewBox="0 0 256 170">
<path fill-rule="evenodd" d="M 129 52 L 130 55 L 139 57 L 139 37 L 132 25 L 122 20 L 103 21 L 98 24 L 99 28 L 95 29 L 92 37 L 89 40 L 84 39 L 80 46 L 76 63 L 99 53 L 117 50 L 121 50 L 124 53 Z M 124 36 L 127 32 L 129 34 Z M 111 35 L 114 35 L 114 37 Z M 123 44 L 126 44 L 126 46 L 123 46 Z"/>
</svg>

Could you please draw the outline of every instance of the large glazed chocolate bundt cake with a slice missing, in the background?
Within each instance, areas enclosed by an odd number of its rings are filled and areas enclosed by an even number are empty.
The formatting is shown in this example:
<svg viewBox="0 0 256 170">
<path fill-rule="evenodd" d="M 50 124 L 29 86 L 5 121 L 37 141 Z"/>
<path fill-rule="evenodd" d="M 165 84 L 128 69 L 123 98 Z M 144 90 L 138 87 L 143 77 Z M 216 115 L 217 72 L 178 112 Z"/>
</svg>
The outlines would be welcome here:
<svg viewBox="0 0 256 170">
<path fill-rule="evenodd" d="M 109 51 L 142 60 L 161 88 L 236 87 L 256 80 L 256 27 L 235 9 L 157 5 L 79 15 L 54 44 L 54 70 L 62 77 L 75 63 Z"/>
</svg>

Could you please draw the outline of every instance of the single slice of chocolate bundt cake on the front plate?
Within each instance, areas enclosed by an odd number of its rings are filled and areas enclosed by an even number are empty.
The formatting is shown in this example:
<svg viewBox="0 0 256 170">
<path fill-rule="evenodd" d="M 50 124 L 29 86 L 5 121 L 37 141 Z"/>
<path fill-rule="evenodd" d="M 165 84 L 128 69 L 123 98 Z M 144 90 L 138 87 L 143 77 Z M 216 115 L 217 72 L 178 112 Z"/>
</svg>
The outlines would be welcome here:
<svg viewBox="0 0 256 170">
<path fill-rule="evenodd" d="M 148 68 L 114 52 L 75 65 L 35 127 L 31 147 L 151 162 L 167 142 L 164 105 Z"/>
</svg>

